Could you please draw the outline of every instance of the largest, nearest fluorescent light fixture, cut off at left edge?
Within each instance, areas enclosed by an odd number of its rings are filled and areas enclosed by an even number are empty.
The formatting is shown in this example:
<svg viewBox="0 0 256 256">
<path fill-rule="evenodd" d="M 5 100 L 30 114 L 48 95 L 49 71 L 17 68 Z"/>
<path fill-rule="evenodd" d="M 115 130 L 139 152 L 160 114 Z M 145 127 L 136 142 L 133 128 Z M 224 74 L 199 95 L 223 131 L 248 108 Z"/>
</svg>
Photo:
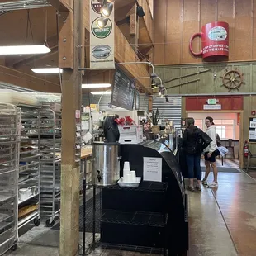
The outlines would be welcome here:
<svg viewBox="0 0 256 256">
<path fill-rule="evenodd" d="M 50 48 L 45 45 L 0 46 L 0 55 L 39 55 L 49 52 Z"/>
</svg>

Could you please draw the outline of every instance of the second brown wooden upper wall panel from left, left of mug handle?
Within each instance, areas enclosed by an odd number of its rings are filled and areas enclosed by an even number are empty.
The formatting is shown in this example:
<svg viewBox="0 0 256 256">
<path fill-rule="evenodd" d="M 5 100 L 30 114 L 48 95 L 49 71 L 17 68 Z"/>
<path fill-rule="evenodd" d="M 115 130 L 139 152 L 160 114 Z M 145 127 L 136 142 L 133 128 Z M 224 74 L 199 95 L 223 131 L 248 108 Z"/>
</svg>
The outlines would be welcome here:
<svg viewBox="0 0 256 256">
<path fill-rule="evenodd" d="M 183 0 L 168 0 L 167 29 L 164 45 L 164 63 L 177 64 L 181 62 L 181 47 L 183 38 Z"/>
</svg>

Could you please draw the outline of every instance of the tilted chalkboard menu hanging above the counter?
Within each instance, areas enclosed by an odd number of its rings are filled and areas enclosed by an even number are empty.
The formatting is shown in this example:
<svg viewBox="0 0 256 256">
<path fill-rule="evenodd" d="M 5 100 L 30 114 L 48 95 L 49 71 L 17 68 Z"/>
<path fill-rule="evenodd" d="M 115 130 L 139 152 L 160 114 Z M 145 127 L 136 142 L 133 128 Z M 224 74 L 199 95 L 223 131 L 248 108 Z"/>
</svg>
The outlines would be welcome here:
<svg viewBox="0 0 256 256">
<path fill-rule="evenodd" d="M 120 69 L 116 69 L 112 86 L 111 105 L 133 110 L 135 83 Z"/>
</svg>

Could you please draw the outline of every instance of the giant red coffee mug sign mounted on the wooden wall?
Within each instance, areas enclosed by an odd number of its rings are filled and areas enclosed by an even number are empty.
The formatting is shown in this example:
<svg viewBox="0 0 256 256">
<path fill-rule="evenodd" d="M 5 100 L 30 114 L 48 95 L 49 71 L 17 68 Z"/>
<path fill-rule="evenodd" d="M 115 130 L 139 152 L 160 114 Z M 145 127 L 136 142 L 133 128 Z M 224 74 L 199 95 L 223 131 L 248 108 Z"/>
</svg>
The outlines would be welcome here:
<svg viewBox="0 0 256 256">
<path fill-rule="evenodd" d="M 201 51 L 192 50 L 192 40 L 201 37 Z M 189 48 L 193 55 L 202 55 L 202 59 L 214 56 L 229 56 L 229 24 L 223 21 L 215 21 L 202 26 L 201 33 L 194 34 L 189 42 Z"/>
</svg>

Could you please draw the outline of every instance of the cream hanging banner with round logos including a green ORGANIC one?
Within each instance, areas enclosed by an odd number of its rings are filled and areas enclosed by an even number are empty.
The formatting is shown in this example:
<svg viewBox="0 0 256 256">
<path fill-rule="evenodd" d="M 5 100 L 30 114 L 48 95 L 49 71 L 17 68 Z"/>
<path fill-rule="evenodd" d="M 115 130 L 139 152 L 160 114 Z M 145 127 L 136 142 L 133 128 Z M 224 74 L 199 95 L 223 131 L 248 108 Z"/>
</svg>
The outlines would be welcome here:
<svg viewBox="0 0 256 256">
<path fill-rule="evenodd" d="M 90 1 L 90 69 L 115 69 L 114 2 Z M 104 2 L 107 12 L 101 12 Z"/>
</svg>

